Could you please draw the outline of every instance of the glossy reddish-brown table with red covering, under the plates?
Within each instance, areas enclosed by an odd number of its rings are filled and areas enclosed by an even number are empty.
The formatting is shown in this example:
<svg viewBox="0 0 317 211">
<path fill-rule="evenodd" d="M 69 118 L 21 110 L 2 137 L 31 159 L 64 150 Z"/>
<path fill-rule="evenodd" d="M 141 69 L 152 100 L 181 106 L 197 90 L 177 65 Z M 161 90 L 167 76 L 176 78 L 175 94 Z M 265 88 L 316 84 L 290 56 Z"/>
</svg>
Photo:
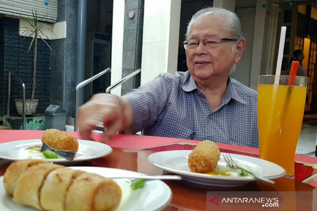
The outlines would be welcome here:
<svg viewBox="0 0 317 211">
<path fill-rule="evenodd" d="M 23 131 L 23 130 L 0 130 L 0 143 L 40 139 L 44 131 Z M 78 139 L 81 139 L 79 133 L 70 132 Z M 92 134 L 95 141 L 102 140 L 102 133 Z M 147 156 L 153 152 L 165 150 L 181 150 L 193 149 L 195 144 L 199 141 L 182 140 L 152 136 L 139 135 L 117 135 L 113 139 L 107 141 L 107 144 L 113 147 L 113 152 L 110 155 L 94 160 L 85 161 L 81 165 L 85 166 L 100 166 L 110 168 L 120 168 L 131 171 L 139 171 L 146 174 L 162 174 L 163 171 L 152 166 L 147 161 Z M 250 148 L 244 146 L 234 146 L 228 144 L 217 144 L 221 152 L 230 152 L 236 154 L 244 154 L 258 157 L 259 150 L 257 148 Z M 142 159 L 140 159 L 142 158 Z M 197 186 L 185 181 L 165 181 L 172 190 L 173 198 L 165 211 L 184 211 L 184 210 L 206 210 L 207 196 L 206 191 L 293 191 L 300 193 L 305 191 L 311 193 L 312 196 L 307 198 L 293 197 L 287 199 L 286 203 L 294 203 L 296 210 L 301 210 L 302 205 L 308 205 L 305 210 L 315 210 L 317 195 L 317 158 L 296 155 L 295 156 L 295 174 L 296 180 L 290 180 L 286 177 L 276 179 L 275 185 L 257 181 L 246 186 L 237 188 L 219 188 L 219 187 L 205 187 Z M 1 161 L 1 160 L 0 160 Z M 8 167 L 8 162 L 0 162 L 0 176 Z M 301 182 L 302 181 L 302 182 Z M 312 186 L 314 185 L 314 186 Z M 190 198 L 190 200 L 188 200 Z M 208 203 L 208 202 L 207 202 Z M 298 208 L 298 209 L 297 209 Z M 281 209 L 279 209 L 281 210 Z"/>
</svg>

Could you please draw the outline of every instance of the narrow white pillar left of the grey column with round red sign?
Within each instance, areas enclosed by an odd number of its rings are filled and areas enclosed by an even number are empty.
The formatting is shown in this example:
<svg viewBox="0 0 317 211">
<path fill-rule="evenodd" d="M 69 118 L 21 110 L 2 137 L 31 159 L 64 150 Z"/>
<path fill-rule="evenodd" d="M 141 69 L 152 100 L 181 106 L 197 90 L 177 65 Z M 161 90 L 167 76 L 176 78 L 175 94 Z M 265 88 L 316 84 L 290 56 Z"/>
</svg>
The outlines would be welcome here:
<svg viewBox="0 0 317 211">
<path fill-rule="evenodd" d="M 125 0 L 113 1 L 111 84 L 122 79 L 125 3 Z M 121 85 L 113 89 L 111 94 L 121 96 Z"/>
</svg>

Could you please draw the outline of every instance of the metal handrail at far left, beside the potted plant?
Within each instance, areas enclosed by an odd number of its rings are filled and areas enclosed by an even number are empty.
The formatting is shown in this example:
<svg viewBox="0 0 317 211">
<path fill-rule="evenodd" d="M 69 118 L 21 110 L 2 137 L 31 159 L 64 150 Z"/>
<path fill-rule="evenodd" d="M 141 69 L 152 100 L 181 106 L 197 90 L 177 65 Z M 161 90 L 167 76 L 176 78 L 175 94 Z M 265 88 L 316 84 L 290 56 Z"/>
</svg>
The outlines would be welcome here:
<svg viewBox="0 0 317 211">
<path fill-rule="evenodd" d="M 13 71 L 9 71 L 8 75 L 8 97 L 7 97 L 7 115 L 10 115 L 10 92 L 11 92 L 11 74 L 22 85 L 22 130 L 25 130 L 25 84 Z"/>
</svg>

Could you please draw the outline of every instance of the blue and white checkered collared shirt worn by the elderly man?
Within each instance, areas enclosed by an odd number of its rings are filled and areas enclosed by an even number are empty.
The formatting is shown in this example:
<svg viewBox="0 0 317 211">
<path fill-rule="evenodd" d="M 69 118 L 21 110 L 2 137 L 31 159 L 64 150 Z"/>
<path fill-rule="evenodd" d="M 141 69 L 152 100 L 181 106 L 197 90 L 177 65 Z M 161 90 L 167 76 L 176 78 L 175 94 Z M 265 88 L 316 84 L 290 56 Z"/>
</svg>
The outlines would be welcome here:
<svg viewBox="0 0 317 211">
<path fill-rule="evenodd" d="M 133 111 L 133 134 L 259 147 L 257 92 L 233 78 L 214 111 L 189 71 L 162 73 L 123 97 Z"/>
</svg>

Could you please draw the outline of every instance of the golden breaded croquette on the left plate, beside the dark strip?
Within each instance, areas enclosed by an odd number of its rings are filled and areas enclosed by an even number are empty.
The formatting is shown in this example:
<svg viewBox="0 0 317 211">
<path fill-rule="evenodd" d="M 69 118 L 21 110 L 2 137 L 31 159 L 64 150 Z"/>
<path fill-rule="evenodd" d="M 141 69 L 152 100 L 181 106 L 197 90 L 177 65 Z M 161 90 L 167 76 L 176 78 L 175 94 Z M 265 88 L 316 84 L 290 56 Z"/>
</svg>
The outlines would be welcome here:
<svg viewBox="0 0 317 211">
<path fill-rule="evenodd" d="M 78 151 L 77 139 L 69 133 L 57 129 L 47 129 L 42 134 L 42 143 L 58 150 Z"/>
</svg>

